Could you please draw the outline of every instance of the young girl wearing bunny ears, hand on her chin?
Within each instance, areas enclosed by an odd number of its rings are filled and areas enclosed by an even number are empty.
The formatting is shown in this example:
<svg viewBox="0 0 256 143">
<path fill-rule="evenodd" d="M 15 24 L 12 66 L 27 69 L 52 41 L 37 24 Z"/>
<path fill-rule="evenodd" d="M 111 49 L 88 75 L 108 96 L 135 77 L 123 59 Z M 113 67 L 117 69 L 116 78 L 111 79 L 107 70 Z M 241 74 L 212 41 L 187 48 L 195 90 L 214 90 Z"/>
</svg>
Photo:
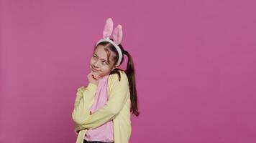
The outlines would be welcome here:
<svg viewBox="0 0 256 143">
<path fill-rule="evenodd" d="M 114 29 L 106 20 L 103 39 L 93 50 L 88 86 L 79 87 L 72 117 L 78 134 L 76 143 L 128 143 L 132 127 L 130 112 L 139 116 L 132 56 L 121 45 L 122 26 Z M 127 70 L 119 69 L 128 57 Z"/>
</svg>

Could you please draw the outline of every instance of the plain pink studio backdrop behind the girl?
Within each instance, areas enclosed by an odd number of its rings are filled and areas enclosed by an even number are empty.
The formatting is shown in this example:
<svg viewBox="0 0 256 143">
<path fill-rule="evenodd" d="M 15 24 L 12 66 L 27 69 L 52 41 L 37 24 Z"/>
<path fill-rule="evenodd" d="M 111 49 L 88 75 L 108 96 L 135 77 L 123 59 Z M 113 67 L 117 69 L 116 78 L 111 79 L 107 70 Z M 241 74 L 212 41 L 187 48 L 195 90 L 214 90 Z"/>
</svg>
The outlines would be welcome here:
<svg viewBox="0 0 256 143">
<path fill-rule="evenodd" d="M 76 89 L 112 17 L 136 69 L 130 142 L 255 143 L 255 4 L 1 1 L 0 142 L 76 142 Z"/>
</svg>

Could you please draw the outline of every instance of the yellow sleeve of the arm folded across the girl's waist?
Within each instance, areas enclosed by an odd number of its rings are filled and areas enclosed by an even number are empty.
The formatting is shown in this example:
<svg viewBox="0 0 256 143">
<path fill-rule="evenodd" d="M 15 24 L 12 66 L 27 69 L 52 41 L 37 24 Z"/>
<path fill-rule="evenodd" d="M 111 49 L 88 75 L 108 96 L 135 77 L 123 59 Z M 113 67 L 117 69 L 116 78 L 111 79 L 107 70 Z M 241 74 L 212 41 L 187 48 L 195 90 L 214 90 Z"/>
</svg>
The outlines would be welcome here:
<svg viewBox="0 0 256 143">
<path fill-rule="evenodd" d="M 120 81 L 117 74 L 112 74 L 111 76 L 109 100 L 104 107 L 93 114 L 88 114 L 89 117 L 83 120 L 83 122 L 80 122 L 81 124 L 78 124 L 80 129 L 94 129 L 99 127 L 114 119 L 122 107 L 124 107 L 124 103 L 129 98 L 129 82 L 127 76 L 122 76 Z"/>
</svg>

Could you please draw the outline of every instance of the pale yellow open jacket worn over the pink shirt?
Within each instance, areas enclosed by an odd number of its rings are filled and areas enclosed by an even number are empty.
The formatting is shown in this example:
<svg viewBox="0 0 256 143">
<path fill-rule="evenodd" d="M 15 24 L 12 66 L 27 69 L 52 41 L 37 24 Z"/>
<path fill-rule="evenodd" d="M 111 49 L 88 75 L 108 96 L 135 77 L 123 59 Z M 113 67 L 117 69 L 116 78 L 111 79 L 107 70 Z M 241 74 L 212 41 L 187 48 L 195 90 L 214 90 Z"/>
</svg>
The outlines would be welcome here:
<svg viewBox="0 0 256 143">
<path fill-rule="evenodd" d="M 83 143 L 84 136 L 88 129 L 105 124 L 113 119 L 114 142 L 128 143 L 131 136 L 132 126 L 130 120 L 130 93 L 127 74 L 119 71 L 118 74 L 109 75 L 108 79 L 108 102 L 97 112 L 90 114 L 97 85 L 89 83 L 87 87 L 79 87 L 76 92 L 76 100 L 72 113 L 75 122 L 75 131 L 79 131 L 76 143 Z"/>
</svg>

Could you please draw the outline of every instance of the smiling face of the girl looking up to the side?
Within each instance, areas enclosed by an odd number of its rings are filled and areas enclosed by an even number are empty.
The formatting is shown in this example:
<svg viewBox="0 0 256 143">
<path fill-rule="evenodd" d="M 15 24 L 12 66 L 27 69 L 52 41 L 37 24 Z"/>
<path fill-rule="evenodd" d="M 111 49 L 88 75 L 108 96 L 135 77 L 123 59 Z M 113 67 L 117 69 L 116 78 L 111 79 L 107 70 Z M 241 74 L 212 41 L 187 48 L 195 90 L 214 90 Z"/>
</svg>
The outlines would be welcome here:
<svg viewBox="0 0 256 143">
<path fill-rule="evenodd" d="M 92 72 L 99 74 L 100 77 L 104 77 L 109 74 L 112 69 L 115 68 L 114 61 L 111 56 L 114 55 L 113 51 L 110 51 L 109 62 L 107 61 L 108 55 L 104 50 L 104 46 L 98 45 L 94 50 L 90 60 L 90 69 Z"/>
</svg>

